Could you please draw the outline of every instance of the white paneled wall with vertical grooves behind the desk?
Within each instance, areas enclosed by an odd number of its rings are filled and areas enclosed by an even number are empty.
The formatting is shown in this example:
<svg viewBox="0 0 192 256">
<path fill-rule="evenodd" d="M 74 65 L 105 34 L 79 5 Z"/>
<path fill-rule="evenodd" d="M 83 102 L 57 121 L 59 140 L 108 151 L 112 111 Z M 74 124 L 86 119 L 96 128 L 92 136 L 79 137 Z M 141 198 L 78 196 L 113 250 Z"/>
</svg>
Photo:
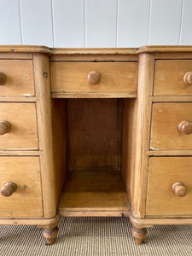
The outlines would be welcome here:
<svg viewBox="0 0 192 256">
<path fill-rule="evenodd" d="M 0 0 L 0 44 L 192 44 L 192 0 Z"/>
</svg>

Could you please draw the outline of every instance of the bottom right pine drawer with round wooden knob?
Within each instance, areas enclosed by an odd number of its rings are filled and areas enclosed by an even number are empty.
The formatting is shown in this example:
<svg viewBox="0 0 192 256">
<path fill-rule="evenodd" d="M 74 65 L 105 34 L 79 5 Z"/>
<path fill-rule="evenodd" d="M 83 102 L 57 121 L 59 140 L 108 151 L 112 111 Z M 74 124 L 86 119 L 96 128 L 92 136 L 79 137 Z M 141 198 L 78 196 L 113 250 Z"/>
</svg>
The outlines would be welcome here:
<svg viewBox="0 0 192 256">
<path fill-rule="evenodd" d="M 148 217 L 192 216 L 192 157 L 150 157 L 147 193 Z"/>
</svg>

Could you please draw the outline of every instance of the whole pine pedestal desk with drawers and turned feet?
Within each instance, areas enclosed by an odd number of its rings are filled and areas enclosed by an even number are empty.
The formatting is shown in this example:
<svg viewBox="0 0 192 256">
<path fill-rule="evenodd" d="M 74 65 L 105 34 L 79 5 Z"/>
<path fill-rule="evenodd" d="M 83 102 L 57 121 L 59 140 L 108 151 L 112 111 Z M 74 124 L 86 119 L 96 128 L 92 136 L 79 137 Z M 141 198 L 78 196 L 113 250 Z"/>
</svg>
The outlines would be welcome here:
<svg viewBox="0 0 192 256">
<path fill-rule="evenodd" d="M 0 224 L 192 224 L 192 46 L 0 47 Z"/>
</svg>

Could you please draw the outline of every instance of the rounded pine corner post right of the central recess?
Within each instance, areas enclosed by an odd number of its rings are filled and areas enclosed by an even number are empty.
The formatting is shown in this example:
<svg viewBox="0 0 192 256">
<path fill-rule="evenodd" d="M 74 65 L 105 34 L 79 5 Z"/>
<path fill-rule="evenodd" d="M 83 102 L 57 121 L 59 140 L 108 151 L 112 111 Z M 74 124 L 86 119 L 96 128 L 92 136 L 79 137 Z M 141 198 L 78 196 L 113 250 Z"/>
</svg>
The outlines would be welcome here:
<svg viewBox="0 0 192 256">
<path fill-rule="evenodd" d="M 132 212 L 136 218 L 144 218 L 145 201 L 147 196 L 148 179 L 148 156 L 146 151 L 149 148 L 149 134 L 151 122 L 152 104 L 149 96 L 152 96 L 154 81 L 154 55 L 143 54 L 139 56 L 138 85 L 136 108 L 133 113 L 134 132 L 130 135 L 135 137 L 135 150 L 130 154 L 134 158 L 131 162 L 131 172 L 133 186 L 133 199 L 131 201 Z M 130 129 L 131 131 L 131 129 Z M 123 154 L 123 153 L 122 153 Z"/>
</svg>

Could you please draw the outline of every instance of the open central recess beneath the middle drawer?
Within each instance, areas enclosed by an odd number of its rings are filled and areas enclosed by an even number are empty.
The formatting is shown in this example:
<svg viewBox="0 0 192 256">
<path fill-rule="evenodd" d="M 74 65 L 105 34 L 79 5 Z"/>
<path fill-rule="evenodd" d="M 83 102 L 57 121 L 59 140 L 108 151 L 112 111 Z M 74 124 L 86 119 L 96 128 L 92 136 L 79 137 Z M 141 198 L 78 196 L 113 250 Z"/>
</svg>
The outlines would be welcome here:
<svg viewBox="0 0 192 256">
<path fill-rule="evenodd" d="M 55 159 L 63 160 L 55 168 L 61 175 L 62 216 L 129 215 L 128 169 L 122 160 L 128 137 L 122 136 L 127 132 L 123 112 L 129 101 L 54 100 Z"/>
</svg>

